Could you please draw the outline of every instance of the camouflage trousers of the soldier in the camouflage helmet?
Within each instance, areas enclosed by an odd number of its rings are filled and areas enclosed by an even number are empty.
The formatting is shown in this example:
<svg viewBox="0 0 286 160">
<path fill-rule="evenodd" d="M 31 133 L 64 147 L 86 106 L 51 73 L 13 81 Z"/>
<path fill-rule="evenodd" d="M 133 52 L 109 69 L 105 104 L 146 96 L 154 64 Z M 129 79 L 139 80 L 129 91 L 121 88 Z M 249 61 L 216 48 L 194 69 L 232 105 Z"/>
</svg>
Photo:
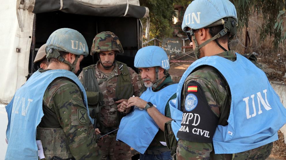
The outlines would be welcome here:
<svg viewBox="0 0 286 160">
<path fill-rule="evenodd" d="M 102 160 L 131 160 L 130 147 L 123 142 L 116 141 L 116 137 L 104 137 L 97 143 Z"/>
</svg>

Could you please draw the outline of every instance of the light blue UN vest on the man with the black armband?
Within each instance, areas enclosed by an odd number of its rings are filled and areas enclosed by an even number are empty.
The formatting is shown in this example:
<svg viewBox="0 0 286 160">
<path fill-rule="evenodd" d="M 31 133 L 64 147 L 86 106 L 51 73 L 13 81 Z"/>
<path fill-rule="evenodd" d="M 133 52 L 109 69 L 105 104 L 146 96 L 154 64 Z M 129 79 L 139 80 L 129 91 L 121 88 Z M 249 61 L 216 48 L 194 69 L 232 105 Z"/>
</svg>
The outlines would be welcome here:
<svg viewBox="0 0 286 160">
<path fill-rule="evenodd" d="M 228 125 L 218 125 L 214 133 L 215 154 L 239 153 L 276 141 L 277 131 L 286 123 L 286 109 L 265 73 L 238 53 L 234 62 L 220 56 L 200 58 L 185 71 L 178 84 L 177 98 L 170 101 L 174 133 L 178 132 L 182 121 L 180 100 L 184 82 L 202 65 L 216 68 L 231 92 Z"/>
</svg>

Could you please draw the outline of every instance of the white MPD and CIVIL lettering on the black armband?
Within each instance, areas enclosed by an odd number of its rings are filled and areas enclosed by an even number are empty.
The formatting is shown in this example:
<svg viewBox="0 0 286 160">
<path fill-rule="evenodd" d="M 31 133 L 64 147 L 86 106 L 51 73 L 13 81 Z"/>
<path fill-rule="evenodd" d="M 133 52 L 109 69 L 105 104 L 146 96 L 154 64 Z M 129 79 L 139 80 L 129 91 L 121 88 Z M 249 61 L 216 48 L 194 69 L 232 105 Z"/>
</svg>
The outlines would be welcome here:
<svg viewBox="0 0 286 160">
<path fill-rule="evenodd" d="M 191 120 L 191 121 L 190 121 Z M 181 128 L 179 131 L 182 131 L 182 132 L 190 132 L 189 131 L 189 127 L 188 126 L 185 126 L 185 125 L 182 125 L 182 124 L 191 124 L 193 126 L 197 126 L 200 124 L 200 120 L 201 120 L 201 117 L 199 114 L 193 114 L 193 113 L 183 113 L 183 118 L 182 118 L 182 122 L 181 122 Z M 209 136 L 209 131 L 207 130 L 202 130 L 200 128 L 193 128 L 191 130 L 191 132 L 193 134 L 197 134 L 197 135 L 201 135 L 201 136 L 205 136 L 207 138 L 210 138 Z"/>
</svg>

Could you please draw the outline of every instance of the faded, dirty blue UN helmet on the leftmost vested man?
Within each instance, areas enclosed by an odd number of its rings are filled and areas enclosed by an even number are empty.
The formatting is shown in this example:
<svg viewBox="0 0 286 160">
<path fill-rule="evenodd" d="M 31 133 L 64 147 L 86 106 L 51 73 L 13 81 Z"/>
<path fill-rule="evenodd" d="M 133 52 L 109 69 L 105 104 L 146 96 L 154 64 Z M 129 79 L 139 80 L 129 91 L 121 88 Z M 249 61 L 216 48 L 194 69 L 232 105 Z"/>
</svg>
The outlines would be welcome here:
<svg viewBox="0 0 286 160">
<path fill-rule="evenodd" d="M 72 72 L 76 69 L 76 63 L 80 55 L 86 57 L 89 54 L 86 40 L 82 34 L 70 28 L 61 28 L 54 31 L 47 40 L 45 50 L 48 60 L 50 58 L 57 58 L 59 61 L 69 65 L 69 67 L 71 67 L 70 71 Z M 73 64 L 69 63 L 61 57 L 59 51 L 75 54 L 76 60 Z"/>
</svg>

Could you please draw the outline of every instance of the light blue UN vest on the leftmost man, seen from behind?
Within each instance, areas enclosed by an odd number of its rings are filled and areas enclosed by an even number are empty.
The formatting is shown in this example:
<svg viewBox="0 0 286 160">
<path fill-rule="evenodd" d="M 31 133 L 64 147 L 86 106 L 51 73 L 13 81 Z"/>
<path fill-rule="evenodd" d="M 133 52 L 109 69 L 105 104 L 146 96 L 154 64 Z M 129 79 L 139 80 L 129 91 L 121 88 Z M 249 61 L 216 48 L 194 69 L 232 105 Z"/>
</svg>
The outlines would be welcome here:
<svg viewBox="0 0 286 160">
<path fill-rule="evenodd" d="M 48 85 L 57 77 L 67 77 L 78 85 L 84 94 L 84 104 L 87 108 L 85 89 L 74 73 L 62 69 L 43 73 L 36 71 L 16 91 L 12 101 L 5 107 L 8 114 L 8 147 L 5 160 L 38 160 L 36 129 L 44 116 L 43 97 Z"/>
</svg>

